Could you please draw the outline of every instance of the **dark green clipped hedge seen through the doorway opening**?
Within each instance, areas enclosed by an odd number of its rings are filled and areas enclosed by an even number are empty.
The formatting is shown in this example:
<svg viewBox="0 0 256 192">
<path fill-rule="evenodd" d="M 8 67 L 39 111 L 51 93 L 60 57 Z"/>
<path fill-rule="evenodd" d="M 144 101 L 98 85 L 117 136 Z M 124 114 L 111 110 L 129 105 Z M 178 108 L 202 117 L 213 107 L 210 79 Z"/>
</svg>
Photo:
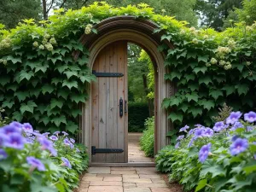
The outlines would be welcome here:
<svg viewBox="0 0 256 192">
<path fill-rule="evenodd" d="M 142 132 L 145 130 L 145 120 L 149 117 L 147 102 L 129 102 L 128 131 Z"/>
</svg>

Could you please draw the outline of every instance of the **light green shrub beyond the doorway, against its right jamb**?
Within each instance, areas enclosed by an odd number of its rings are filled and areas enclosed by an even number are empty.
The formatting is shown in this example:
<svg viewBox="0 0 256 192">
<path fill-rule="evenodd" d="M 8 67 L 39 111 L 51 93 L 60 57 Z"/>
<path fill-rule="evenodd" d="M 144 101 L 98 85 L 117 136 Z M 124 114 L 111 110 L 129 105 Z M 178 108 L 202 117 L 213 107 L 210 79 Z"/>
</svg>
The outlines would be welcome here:
<svg viewBox="0 0 256 192">
<path fill-rule="evenodd" d="M 154 157 L 154 117 L 145 122 L 146 130 L 140 138 L 140 145 L 147 157 Z"/>
</svg>

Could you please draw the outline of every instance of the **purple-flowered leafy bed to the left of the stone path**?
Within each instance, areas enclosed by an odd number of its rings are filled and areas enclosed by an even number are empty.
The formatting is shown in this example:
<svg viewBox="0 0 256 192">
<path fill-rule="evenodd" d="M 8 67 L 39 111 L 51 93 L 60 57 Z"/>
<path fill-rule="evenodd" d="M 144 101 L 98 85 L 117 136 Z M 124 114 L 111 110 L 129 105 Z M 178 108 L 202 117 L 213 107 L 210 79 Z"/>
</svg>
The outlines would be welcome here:
<svg viewBox="0 0 256 192">
<path fill-rule="evenodd" d="M 65 131 L 43 134 L 28 123 L 0 128 L 0 191 L 73 191 L 88 165 L 85 148 Z"/>
</svg>

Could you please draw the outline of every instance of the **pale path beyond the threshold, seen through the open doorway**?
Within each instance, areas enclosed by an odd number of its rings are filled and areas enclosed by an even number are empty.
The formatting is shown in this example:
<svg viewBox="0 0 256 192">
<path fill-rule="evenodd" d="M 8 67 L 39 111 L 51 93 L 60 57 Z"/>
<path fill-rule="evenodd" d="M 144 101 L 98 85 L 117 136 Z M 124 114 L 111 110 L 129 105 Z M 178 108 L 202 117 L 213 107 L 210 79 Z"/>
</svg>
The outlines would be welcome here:
<svg viewBox="0 0 256 192">
<path fill-rule="evenodd" d="M 128 133 L 128 162 L 154 162 L 153 158 L 146 157 L 144 152 L 140 150 L 139 140 L 143 133 Z"/>
</svg>

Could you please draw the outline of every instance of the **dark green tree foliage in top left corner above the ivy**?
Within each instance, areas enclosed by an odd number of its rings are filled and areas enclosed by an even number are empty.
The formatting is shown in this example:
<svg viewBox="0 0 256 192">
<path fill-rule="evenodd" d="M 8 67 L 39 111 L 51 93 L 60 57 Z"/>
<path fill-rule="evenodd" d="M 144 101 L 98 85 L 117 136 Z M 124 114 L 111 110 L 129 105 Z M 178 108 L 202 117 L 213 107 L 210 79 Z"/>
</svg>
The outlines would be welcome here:
<svg viewBox="0 0 256 192">
<path fill-rule="evenodd" d="M 0 0 L 0 23 L 7 28 L 15 27 L 20 20 L 40 19 L 40 0 Z"/>
</svg>

